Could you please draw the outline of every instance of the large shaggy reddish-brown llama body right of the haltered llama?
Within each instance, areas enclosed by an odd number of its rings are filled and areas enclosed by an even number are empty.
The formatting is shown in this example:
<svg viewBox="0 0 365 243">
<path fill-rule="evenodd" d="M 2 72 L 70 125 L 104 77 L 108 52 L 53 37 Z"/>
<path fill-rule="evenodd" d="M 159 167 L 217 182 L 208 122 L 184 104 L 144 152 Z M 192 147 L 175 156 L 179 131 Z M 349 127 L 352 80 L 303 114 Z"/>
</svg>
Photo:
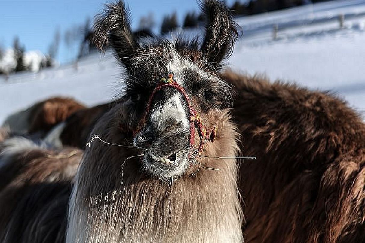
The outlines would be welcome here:
<svg viewBox="0 0 365 243">
<path fill-rule="evenodd" d="M 228 71 L 246 242 L 365 242 L 365 125 L 328 93 Z"/>
</svg>

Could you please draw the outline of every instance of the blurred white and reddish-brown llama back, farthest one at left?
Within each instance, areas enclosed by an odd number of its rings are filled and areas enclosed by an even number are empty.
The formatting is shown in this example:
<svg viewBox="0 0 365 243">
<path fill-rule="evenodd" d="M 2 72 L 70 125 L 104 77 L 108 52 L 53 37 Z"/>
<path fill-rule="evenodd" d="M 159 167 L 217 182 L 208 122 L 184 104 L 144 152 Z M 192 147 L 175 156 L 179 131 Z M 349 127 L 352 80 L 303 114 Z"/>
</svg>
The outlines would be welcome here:
<svg viewBox="0 0 365 243">
<path fill-rule="evenodd" d="M 3 127 L 6 126 L 17 134 L 39 133 L 43 136 L 56 124 L 82 108 L 85 106 L 74 99 L 53 97 L 12 114 L 5 120 Z"/>
</svg>

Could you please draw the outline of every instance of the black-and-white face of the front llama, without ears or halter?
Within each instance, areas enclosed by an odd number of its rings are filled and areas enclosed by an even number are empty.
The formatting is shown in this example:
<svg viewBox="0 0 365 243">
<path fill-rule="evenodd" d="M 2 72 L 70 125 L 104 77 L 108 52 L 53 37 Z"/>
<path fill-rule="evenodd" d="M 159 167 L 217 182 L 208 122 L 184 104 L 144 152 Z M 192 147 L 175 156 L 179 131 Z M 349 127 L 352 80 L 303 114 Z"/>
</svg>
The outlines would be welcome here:
<svg viewBox="0 0 365 243">
<path fill-rule="evenodd" d="M 144 119 L 134 138 L 134 146 L 145 151 L 145 169 L 161 179 L 183 175 L 190 164 L 187 151 L 199 147 L 199 139 L 197 144 L 190 141 L 189 106 L 207 120 L 207 113 L 222 108 L 230 94 L 228 86 L 207 69 L 204 59 L 197 62 L 200 63 L 198 66 L 189 55 L 174 46 L 164 42 L 139 50 L 140 54 L 132 62 L 132 70 L 142 71 L 129 74 L 126 89 L 126 99 L 131 101 L 130 113 L 137 120 Z M 168 74 L 181 90 L 167 86 L 151 97 L 161 77 Z M 199 138 L 199 134 L 194 136 Z"/>
</svg>

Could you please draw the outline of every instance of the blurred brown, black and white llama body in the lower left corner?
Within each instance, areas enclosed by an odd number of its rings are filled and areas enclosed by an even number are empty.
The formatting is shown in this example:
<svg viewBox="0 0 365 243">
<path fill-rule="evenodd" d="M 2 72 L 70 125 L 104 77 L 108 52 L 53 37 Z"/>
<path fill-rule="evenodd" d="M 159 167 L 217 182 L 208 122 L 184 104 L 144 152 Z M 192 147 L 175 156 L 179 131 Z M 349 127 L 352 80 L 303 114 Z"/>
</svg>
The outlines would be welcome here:
<svg viewBox="0 0 365 243">
<path fill-rule="evenodd" d="M 0 148 L 0 242 L 65 241 L 70 181 L 82 151 L 44 150 L 14 137 Z"/>
</svg>

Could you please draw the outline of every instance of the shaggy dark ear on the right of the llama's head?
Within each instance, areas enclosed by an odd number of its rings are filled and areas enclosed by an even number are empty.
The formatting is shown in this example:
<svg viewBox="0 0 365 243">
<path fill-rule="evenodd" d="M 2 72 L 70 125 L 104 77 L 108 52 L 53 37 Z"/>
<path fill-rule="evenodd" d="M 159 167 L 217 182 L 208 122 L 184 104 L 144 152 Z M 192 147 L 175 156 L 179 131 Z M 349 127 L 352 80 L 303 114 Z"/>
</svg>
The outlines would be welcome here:
<svg viewBox="0 0 365 243">
<path fill-rule="evenodd" d="M 220 62 L 233 51 L 237 39 L 237 23 L 223 3 L 216 0 L 205 0 L 202 11 L 207 19 L 205 37 L 201 52 L 214 67 L 220 67 Z"/>
</svg>

